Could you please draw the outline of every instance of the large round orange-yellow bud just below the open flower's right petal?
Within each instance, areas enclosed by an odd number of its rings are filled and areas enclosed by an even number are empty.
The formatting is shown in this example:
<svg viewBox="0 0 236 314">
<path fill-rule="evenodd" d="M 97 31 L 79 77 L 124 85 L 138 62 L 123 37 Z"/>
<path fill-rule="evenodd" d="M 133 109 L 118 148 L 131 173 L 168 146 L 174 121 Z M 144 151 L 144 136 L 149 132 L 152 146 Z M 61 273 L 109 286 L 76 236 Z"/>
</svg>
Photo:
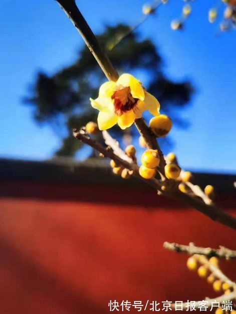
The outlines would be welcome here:
<svg viewBox="0 0 236 314">
<path fill-rule="evenodd" d="M 162 137 L 169 133 L 172 127 L 172 121 L 167 115 L 160 114 L 151 118 L 149 126 L 157 137 Z"/>
</svg>

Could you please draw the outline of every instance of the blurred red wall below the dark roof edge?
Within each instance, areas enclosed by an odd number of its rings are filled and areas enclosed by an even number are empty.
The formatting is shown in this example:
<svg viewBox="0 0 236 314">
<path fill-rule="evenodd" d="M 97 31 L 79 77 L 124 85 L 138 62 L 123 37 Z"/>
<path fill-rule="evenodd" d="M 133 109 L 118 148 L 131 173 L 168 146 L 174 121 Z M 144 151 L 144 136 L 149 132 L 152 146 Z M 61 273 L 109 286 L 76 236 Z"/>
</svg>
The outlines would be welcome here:
<svg viewBox="0 0 236 314">
<path fill-rule="evenodd" d="M 162 244 L 236 249 L 234 231 L 151 189 L 3 181 L 0 194 L 3 314 L 106 313 L 110 299 L 213 297 L 186 255 Z M 220 202 L 236 214 L 235 198 Z M 235 265 L 222 263 L 232 279 Z"/>
</svg>

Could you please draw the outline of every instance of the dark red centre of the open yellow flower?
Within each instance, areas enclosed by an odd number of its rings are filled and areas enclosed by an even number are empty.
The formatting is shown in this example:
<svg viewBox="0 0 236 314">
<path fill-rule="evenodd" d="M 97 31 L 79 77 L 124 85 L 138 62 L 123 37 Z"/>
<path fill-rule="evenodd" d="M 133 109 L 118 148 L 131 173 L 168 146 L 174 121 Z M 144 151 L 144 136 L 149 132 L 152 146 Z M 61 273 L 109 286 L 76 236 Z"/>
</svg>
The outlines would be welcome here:
<svg viewBox="0 0 236 314">
<path fill-rule="evenodd" d="M 114 108 L 117 115 L 135 108 L 138 98 L 134 98 L 131 94 L 130 87 L 121 86 L 111 96 L 114 99 Z"/>
</svg>

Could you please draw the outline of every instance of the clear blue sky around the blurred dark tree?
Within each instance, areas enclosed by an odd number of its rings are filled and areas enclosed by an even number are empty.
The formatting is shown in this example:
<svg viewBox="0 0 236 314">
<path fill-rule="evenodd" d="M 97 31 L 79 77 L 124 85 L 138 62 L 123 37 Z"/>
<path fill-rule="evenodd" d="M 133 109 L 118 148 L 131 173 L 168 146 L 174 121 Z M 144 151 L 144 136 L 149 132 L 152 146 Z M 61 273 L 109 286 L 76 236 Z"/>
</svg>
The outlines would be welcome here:
<svg viewBox="0 0 236 314">
<path fill-rule="evenodd" d="M 104 24 L 135 23 L 144 0 L 80 0 L 80 9 L 94 32 Z M 167 75 L 189 78 L 196 93 L 182 116 L 190 126 L 171 131 L 173 151 L 186 169 L 236 173 L 236 31 L 216 35 L 207 21 L 214 0 L 197 0 L 184 31 L 170 29 L 180 15 L 182 0 L 170 0 L 139 28 L 164 57 Z M 223 9 L 222 3 L 221 8 Z M 96 12 L 96 14 L 95 14 Z M 76 58 L 83 44 L 69 19 L 54 0 L 0 2 L 0 156 L 48 159 L 60 145 L 50 126 L 33 120 L 33 110 L 22 97 L 39 69 L 53 73 Z"/>
</svg>

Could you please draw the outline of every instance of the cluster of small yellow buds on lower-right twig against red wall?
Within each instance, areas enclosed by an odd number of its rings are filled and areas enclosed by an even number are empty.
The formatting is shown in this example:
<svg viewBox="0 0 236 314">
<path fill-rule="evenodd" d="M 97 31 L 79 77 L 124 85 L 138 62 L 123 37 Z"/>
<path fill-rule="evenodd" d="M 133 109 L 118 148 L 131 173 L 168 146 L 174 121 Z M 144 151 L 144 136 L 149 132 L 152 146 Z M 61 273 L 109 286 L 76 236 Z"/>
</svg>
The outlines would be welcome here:
<svg viewBox="0 0 236 314">
<path fill-rule="evenodd" d="M 201 278 L 205 278 L 209 284 L 212 284 L 213 289 L 215 292 L 222 292 L 224 291 L 225 294 L 228 294 L 232 291 L 232 286 L 230 286 L 227 282 L 217 278 L 214 273 L 212 273 L 209 269 L 209 265 L 201 264 L 200 263 L 199 255 L 192 255 L 187 259 L 187 268 L 191 271 L 197 271 L 198 275 Z M 219 268 L 219 259 L 215 256 L 210 257 L 208 262 L 216 267 Z M 221 311 L 220 311 L 221 310 Z M 216 314 L 223 313 L 222 309 L 219 307 L 216 310 Z"/>
</svg>

